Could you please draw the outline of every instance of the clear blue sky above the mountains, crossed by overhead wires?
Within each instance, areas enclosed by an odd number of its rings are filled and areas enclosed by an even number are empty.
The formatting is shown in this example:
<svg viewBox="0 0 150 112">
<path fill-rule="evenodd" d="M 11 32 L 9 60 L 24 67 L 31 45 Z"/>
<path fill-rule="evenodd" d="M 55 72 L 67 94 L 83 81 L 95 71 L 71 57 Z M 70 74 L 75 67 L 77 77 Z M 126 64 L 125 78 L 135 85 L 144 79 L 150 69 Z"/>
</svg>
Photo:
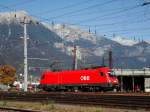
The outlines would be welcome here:
<svg viewBox="0 0 150 112">
<path fill-rule="evenodd" d="M 42 22 L 80 27 L 108 38 L 150 40 L 150 0 L 0 0 L 0 12 L 24 10 Z"/>
</svg>

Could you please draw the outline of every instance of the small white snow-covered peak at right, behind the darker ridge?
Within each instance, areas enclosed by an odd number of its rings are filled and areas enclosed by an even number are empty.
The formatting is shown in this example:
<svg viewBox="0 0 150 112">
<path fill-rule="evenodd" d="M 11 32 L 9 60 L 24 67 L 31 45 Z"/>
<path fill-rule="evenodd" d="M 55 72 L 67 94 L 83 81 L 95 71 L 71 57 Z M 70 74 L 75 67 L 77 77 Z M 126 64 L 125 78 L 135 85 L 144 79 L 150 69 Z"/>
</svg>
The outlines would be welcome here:
<svg viewBox="0 0 150 112">
<path fill-rule="evenodd" d="M 112 38 L 113 41 L 116 41 L 124 46 L 133 46 L 138 43 L 137 40 L 131 40 L 120 36 L 115 36 Z"/>
</svg>

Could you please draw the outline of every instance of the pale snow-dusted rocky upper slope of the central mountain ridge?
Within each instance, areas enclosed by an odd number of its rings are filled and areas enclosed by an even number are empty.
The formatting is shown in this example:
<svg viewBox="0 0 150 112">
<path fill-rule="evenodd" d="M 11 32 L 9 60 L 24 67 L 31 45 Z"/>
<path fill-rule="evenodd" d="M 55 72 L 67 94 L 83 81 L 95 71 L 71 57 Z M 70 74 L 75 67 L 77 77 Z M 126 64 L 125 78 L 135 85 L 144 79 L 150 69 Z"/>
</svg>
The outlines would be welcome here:
<svg viewBox="0 0 150 112">
<path fill-rule="evenodd" d="M 47 25 L 47 27 L 68 42 L 74 42 L 82 38 L 91 41 L 93 44 L 96 43 L 96 36 L 89 32 L 83 31 L 76 26 L 56 24 L 51 26 Z"/>
</svg>

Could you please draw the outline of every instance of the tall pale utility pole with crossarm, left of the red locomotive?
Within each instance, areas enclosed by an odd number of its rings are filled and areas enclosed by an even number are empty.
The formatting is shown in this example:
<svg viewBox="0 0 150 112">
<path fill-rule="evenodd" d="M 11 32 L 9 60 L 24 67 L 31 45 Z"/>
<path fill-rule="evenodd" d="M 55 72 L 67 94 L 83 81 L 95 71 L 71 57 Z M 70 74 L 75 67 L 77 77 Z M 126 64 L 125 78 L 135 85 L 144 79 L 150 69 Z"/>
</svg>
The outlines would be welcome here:
<svg viewBox="0 0 150 112">
<path fill-rule="evenodd" d="M 24 17 L 24 21 L 21 22 L 24 25 L 24 91 L 27 92 L 28 87 L 28 58 L 27 58 L 27 22 L 26 17 Z"/>
</svg>

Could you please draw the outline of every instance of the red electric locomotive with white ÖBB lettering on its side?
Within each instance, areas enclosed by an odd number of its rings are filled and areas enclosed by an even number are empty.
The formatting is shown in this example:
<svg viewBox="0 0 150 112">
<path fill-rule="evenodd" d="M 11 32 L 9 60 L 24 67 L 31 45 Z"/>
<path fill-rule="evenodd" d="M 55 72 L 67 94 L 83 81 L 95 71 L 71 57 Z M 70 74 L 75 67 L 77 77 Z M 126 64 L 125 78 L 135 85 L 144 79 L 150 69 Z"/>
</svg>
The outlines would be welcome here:
<svg viewBox="0 0 150 112">
<path fill-rule="evenodd" d="M 44 71 L 40 88 L 46 91 L 100 91 L 117 87 L 118 79 L 108 67 L 84 70 Z"/>
</svg>

